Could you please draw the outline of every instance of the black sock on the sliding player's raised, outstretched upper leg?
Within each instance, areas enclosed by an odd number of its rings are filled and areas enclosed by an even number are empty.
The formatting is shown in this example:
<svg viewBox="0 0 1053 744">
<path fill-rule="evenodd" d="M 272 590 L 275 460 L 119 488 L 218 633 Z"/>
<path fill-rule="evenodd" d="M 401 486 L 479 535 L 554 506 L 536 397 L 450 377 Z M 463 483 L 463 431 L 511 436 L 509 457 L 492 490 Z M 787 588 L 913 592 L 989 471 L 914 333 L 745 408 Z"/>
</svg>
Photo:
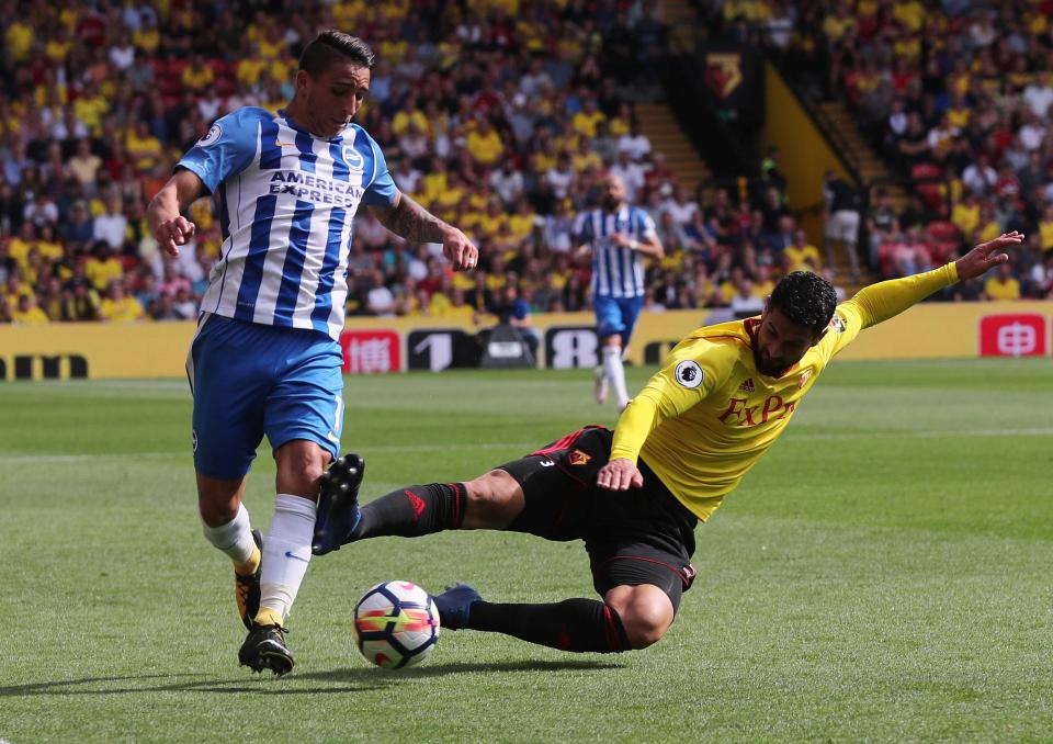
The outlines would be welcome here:
<svg viewBox="0 0 1053 744">
<path fill-rule="evenodd" d="M 429 483 L 393 491 L 362 507 L 352 540 L 397 536 L 416 538 L 464 523 L 467 492 L 463 483 Z"/>
</svg>

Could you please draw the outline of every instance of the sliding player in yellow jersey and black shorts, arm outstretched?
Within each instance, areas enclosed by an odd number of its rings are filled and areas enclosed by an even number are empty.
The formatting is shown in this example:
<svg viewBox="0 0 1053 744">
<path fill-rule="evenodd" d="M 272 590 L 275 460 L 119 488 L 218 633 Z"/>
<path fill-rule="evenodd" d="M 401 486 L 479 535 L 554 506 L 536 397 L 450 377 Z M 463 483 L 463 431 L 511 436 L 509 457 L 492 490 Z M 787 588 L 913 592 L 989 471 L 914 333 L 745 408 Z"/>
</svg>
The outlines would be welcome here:
<svg viewBox="0 0 1053 744">
<path fill-rule="evenodd" d="M 602 601 L 505 605 L 458 584 L 435 597 L 442 627 L 564 651 L 648 646 L 672 624 L 694 578 L 697 523 L 774 443 L 827 363 L 860 330 L 1005 263 L 1003 249 L 1022 238 L 1003 235 L 954 263 L 874 284 L 840 305 L 823 278 L 791 273 L 760 317 L 700 328 L 681 341 L 613 432 L 588 427 L 467 483 L 394 491 L 362 507 L 346 541 L 445 529 L 585 540 Z"/>
</svg>

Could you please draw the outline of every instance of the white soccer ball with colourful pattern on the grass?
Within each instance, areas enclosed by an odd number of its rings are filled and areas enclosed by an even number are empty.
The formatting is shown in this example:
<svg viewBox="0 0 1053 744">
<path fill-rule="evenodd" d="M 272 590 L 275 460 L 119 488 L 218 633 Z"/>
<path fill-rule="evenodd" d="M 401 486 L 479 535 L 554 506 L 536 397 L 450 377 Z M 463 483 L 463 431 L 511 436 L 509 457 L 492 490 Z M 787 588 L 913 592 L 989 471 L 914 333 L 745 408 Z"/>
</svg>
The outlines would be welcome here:
<svg viewBox="0 0 1053 744">
<path fill-rule="evenodd" d="M 439 610 L 416 584 L 382 582 L 354 606 L 354 638 L 362 655 L 377 666 L 412 666 L 439 642 Z"/>
</svg>

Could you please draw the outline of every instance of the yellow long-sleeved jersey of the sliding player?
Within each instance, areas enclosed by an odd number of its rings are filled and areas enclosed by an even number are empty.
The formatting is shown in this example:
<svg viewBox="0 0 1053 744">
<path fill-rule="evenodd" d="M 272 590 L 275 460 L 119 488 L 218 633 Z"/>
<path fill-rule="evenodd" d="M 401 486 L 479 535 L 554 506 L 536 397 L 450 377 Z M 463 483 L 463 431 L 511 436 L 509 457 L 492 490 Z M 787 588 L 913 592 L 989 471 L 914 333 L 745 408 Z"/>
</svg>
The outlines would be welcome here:
<svg viewBox="0 0 1053 744">
<path fill-rule="evenodd" d="M 757 370 L 759 318 L 700 328 L 625 409 L 611 459 L 637 456 L 705 521 L 782 433 L 829 361 L 859 331 L 958 281 L 953 263 L 881 282 L 837 306 L 826 334 L 778 377 Z"/>
</svg>

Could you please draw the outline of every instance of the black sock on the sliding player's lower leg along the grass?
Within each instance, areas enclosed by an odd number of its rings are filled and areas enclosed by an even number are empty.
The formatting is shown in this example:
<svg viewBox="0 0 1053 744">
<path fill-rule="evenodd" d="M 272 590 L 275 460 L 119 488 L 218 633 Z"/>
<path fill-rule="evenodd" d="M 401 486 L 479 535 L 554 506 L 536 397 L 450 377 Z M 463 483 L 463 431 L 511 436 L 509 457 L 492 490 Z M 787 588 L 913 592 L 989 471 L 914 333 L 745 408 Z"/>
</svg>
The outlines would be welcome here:
<svg viewBox="0 0 1053 744">
<path fill-rule="evenodd" d="M 618 610 L 595 599 L 566 599 L 554 605 L 479 600 L 472 604 L 467 627 L 561 651 L 610 654 L 631 647 Z"/>
</svg>

